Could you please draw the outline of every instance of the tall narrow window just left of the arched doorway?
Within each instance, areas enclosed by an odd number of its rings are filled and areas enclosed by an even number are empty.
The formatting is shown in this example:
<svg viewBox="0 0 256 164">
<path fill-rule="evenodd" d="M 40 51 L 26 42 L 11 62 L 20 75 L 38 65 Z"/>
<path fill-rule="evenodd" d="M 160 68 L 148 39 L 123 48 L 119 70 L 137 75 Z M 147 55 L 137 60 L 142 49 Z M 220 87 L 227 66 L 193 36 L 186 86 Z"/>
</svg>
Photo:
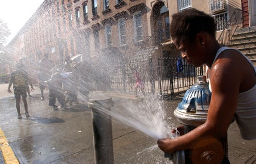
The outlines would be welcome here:
<svg viewBox="0 0 256 164">
<path fill-rule="evenodd" d="M 142 32 L 142 14 L 138 12 L 133 16 L 134 20 L 134 39 L 135 41 L 143 40 L 143 32 Z"/>
</svg>

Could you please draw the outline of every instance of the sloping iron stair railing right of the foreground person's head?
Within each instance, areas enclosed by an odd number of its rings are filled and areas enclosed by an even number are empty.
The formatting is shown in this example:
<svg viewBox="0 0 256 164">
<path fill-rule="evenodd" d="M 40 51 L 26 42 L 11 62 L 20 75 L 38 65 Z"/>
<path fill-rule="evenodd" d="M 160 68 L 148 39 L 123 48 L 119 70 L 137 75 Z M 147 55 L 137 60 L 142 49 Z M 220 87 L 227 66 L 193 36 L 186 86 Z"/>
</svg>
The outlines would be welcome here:
<svg viewBox="0 0 256 164">
<path fill-rule="evenodd" d="M 220 37 L 218 37 L 218 43 L 223 46 L 227 46 L 230 44 L 230 40 L 232 39 L 237 28 L 243 27 L 243 16 L 245 14 L 249 13 L 240 9 L 234 10 L 233 14 L 230 16 L 230 19 L 226 23 L 224 30 L 221 32 Z"/>
</svg>

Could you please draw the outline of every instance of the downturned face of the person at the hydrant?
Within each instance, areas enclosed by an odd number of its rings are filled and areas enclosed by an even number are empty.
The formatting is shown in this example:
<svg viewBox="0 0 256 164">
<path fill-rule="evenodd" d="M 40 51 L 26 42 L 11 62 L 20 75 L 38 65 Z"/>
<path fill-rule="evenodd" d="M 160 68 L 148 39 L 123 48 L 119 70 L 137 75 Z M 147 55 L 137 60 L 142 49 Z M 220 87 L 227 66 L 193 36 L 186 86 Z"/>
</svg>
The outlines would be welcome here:
<svg viewBox="0 0 256 164">
<path fill-rule="evenodd" d="M 204 64 L 204 54 L 201 51 L 199 40 L 193 42 L 187 40 L 174 39 L 175 47 L 181 52 L 181 57 L 184 58 L 188 64 L 193 64 L 195 67 L 199 67 Z"/>
</svg>

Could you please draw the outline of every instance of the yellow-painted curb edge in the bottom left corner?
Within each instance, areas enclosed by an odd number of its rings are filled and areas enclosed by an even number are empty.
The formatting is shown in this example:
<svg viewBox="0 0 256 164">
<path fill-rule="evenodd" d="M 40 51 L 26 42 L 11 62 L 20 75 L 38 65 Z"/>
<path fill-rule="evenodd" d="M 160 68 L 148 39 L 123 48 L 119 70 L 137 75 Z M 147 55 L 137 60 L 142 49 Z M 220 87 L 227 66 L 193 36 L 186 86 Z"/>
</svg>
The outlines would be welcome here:
<svg viewBox="0 0 256 164">
<path fill-rule="evenodd" d="M 13 149 L 9 146 L 5 134 L 0 128 L 0 149 L 2 151 L 3 159 L 6 164 L 19 164 L 18 159 L 15 157 Z"/>
</svg>

